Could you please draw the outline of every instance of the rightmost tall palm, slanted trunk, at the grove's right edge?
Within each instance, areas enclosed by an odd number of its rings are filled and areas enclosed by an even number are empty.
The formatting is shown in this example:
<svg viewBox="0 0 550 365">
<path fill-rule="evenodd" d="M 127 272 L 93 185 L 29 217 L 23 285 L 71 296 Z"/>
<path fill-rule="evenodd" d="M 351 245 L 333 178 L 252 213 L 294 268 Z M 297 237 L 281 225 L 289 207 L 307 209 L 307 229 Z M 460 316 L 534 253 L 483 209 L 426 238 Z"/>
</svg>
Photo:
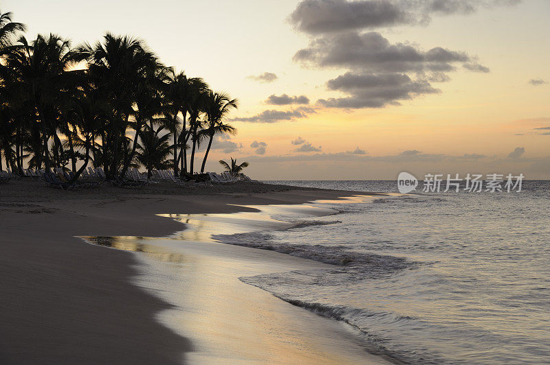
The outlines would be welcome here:
<svg viewBox="0 0 550 365">
<path fill-rule="evenodd" d="M 205 100 L 205 112 L 207 118 L 207 128 L 201 130 L 203 136 L 208 137 L 208 146 L 204 152 L 204 158 L 201 165 L 201 173 L 204 172 L 204 166 L 208 159 L 208 152 L 212 147 L 212 140 L 215 134 L 235 134 L 236 129 L 229 124 L 224 124 L 223 119 L 230 113 L 232 108 L 237 108 L 237 99 L 231 99 L 228 94 L 214 93 L 209 91 Z"/>
</svg>

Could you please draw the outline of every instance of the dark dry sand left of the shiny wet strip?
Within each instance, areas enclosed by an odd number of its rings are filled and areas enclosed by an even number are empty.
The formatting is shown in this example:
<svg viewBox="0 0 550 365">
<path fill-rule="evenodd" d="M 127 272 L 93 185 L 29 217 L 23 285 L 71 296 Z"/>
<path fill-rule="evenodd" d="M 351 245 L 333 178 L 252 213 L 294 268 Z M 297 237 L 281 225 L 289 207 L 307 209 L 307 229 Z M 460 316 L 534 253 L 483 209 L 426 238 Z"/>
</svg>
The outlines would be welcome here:
<svg viewBox="0 0 550 365">
<path fill-rule="evenodd" d="M 193 344 L 155 320 L 173 305 L 132 284 L 139 274 L 135 257 L 74 236 L 164 237 L 182 231 L 181 224 L 155 214 L 254 211 L 230 204 L 301 204 L 353 194 L 276 187 L 173 195 L 181 189 L 67 193 L 32 181 L 4 185 L 0 360 L 180 363 Z"/>
</svg>

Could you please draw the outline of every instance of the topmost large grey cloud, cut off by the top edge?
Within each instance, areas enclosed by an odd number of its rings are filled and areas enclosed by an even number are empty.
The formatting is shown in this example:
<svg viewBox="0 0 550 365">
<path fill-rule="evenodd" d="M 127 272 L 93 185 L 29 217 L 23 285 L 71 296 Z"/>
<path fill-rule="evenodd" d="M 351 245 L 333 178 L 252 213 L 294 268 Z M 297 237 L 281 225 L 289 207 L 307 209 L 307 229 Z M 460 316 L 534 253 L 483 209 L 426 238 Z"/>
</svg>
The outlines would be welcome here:
<svg viewBox="0 0 550 365">
<path fill-rule="evenodd" d="M 514 5 L 520 0 L 304 0 L 289 16 L 296 30 L 309 34 L 427 25 L 431 14 L 468 14 L 481 6 Z"/>
</svg>

